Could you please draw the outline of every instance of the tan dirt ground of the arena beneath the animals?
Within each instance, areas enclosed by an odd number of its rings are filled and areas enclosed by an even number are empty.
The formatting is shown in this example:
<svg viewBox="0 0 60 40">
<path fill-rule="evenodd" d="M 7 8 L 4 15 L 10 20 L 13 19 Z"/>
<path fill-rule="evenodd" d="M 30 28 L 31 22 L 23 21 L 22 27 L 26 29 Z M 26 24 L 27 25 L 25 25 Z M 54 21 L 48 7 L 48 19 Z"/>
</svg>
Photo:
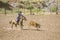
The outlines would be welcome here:
<svg viewBox="0 0 60 40">
<path fill-rule="evenodd" d="M 0 14 L 0 40 L 60 40 L 60 15 L 24 15 L 24 29 L 20 26 L 11 28 L 9 21 L 15 19 L 17 14 Z M 40 31 L 29 26 L 34 20 L 40 24 Z"/>
</svg>

